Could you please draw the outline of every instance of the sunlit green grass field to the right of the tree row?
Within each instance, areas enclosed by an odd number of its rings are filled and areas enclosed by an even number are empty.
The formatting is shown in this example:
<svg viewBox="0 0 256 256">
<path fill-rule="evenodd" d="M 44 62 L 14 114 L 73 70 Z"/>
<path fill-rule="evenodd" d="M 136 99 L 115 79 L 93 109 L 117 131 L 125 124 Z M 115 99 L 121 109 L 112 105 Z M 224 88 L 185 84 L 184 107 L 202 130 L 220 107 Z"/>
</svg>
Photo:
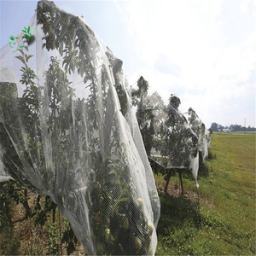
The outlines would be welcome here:
<svg viewBox="0 0 256 256">
<path fill-rule="evenodd" d="M 254 255 L 255 135 L 212 134 L 212 170 L 200 177 L 201 201 L 160 194 L 156 255 Z M 160 180 L 163 177 L 157 176 Z M 177 177 L 171 183 L 178 183 Z M 185 188 L 194 182 L 183 179 Z"/>
</svg>

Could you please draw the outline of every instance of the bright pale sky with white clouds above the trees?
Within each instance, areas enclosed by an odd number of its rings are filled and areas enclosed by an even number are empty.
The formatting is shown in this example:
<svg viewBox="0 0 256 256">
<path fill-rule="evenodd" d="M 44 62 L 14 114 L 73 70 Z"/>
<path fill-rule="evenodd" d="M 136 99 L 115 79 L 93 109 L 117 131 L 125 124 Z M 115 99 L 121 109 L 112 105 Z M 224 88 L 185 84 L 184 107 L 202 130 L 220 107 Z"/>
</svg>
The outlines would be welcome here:
<svg viewBox="0 0 256 256">
<path fill-rule="evenodd" d="M 255 125 L 256 1 L 55 1 L 124 61 L 131 85 L 180 97 L 210 127 Z M 37 1 L 1 1 L 1 48 L 21 32 Z"/>
</svg>

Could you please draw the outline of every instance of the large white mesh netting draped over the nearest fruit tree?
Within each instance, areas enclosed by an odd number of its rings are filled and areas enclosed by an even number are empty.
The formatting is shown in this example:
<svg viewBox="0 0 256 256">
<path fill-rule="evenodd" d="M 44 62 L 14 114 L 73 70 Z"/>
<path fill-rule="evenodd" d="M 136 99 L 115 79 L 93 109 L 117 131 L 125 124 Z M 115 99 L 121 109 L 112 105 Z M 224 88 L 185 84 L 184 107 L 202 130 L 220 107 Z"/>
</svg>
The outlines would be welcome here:
<svg viewBox="0 0 256 256">
<path fill-rule="evenodd" d="M 53 2 L 28 26 L 1 49 L 0 172 L 51 196 L 86 253 L 154 254 L 160 201 L 122 61 Z"/>
</svg>

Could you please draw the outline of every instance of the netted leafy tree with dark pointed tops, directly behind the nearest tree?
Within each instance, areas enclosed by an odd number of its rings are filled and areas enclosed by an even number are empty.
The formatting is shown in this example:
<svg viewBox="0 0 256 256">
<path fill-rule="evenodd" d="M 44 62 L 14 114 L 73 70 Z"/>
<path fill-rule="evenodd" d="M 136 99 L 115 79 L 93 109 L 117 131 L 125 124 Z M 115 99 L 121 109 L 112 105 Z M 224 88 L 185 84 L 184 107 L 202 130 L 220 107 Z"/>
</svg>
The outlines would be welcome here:
<svg viewBox="0 0 256 256">
<path fill-rule="evenodd" d="M 168 179 L 171 170 L 191 170 L 197 186 L 198 137 L 178 110 L 180 99 L 171 95 L 166 106 L 157 93 L 148 96 L 148 81 L 143 77 L 137 86 L 132 90 L 133 103 L 148 158 L 169 170 Z"/>
</svg>

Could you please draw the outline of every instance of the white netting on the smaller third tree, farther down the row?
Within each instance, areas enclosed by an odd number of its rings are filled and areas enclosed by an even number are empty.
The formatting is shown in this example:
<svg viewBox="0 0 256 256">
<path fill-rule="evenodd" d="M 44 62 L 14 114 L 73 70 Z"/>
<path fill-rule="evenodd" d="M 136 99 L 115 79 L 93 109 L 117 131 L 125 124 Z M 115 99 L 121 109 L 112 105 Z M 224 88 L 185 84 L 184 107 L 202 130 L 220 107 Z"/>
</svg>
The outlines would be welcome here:
<svg viewBox="0 0 256 256">
<path fill-rule="evenodd" d="M 201 157 L 203 162 L 207 160 L 208 157 L 208 142 L 206 136 L 206 125 L 201 121 L 198 115 L 195 113 L 193 108 L 189 108 L 187 118 L 189 121 L 189 126 L 198 137 L 198 150 L 201 152 Z"/>
</svg>

